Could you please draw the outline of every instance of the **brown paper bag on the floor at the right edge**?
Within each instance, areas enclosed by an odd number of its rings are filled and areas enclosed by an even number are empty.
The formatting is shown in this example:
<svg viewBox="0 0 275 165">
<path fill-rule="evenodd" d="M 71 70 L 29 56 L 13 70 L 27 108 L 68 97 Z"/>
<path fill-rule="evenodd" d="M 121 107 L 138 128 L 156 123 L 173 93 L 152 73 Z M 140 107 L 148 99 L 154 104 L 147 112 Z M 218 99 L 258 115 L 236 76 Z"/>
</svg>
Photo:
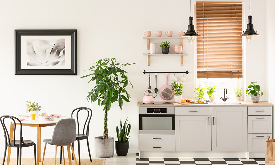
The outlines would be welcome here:
<svg viewBox="0 0 275 165">
<path fill-rule="evenodd" d="M 267 136 L 266 151 L 265 151 L 265 165 L 275 165 L 275 139 L 269 140 Z"/>
</svg>

